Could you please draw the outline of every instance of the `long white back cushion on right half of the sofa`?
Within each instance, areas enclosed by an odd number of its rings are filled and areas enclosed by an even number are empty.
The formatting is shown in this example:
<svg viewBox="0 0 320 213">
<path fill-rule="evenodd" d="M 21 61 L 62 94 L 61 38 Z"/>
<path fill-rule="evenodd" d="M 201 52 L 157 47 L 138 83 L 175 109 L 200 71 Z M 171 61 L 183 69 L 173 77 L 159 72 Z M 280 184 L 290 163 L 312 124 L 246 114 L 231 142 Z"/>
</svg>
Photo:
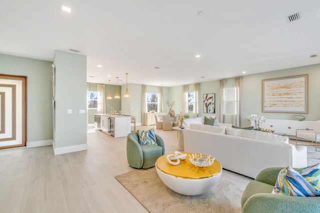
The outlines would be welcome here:
<svg viewBox="0 0 320 213">
<path fill-rule="evenodd" d="M 233 135 L 238 137 L 244 138 L 252 138 L 261 141 L 270 141 L 270 142 L 277 142 L 288 144 L 289 138 L 286 136 L 274 135 L 272 133 L 256 131 L 256 130 L 246 130 L 246 129 L 235 129 L 232 127 L 226 127 L 225 130 L 227 135 Z"/>
</svg>

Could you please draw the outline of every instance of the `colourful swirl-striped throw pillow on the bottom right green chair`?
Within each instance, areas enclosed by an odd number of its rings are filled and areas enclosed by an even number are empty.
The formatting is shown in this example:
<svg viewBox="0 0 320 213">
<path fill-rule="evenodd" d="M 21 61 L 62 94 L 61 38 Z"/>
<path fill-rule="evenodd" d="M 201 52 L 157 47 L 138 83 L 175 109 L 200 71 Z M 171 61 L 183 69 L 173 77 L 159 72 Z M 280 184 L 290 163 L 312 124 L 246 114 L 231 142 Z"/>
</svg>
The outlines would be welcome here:
<svg viewBox="0 0 320 213">
<path fill-rule="evenodd" d="M 320 196 L 320 163 L 313 166 L 282 169 L 276 179 L 272 194 L 311 197 Z"/>
</svg>

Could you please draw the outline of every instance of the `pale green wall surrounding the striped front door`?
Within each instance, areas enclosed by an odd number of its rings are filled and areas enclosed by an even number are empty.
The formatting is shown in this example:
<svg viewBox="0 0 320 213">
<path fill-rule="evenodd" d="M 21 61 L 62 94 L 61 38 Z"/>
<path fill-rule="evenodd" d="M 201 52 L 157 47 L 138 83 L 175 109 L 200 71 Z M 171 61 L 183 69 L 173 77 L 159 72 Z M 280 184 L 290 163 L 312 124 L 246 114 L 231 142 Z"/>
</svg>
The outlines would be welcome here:
<svg viewBox="0 0 320 213">
<path fill-rule="evenodd" d="M 52 62 L 0 54 L 0 73 L 27 76 L 27 142 L 52 139 Z"/>
</svg>

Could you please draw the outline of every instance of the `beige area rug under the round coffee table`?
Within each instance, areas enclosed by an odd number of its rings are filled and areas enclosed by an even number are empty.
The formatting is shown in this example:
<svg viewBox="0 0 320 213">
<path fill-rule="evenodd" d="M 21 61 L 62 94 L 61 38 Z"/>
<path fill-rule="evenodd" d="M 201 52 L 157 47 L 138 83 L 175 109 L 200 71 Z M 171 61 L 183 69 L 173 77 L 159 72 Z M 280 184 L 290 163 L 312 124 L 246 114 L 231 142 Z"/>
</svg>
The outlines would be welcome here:
<svg viewBox="0 0 320 213">
<path fill-rule="evenodd" d="M 155 168 L 133 170 L 115 179 L 150 213 L 240 213 L 244 189 L 221 177 L 211 191 L 185 196 L 171 191 Z M 187 187 L 187 186 L 185 186 Z"/>
</svg>

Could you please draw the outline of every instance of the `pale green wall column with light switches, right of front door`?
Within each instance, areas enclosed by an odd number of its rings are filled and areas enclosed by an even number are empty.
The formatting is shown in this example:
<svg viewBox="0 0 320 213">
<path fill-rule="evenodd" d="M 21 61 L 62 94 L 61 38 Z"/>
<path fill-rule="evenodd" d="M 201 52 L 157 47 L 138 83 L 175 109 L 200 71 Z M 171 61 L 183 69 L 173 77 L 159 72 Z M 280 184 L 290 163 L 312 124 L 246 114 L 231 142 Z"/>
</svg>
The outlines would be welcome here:
<svg viewBox="0 0 320 213">
<path fill-rule="evenodd" d="M 86 144 L 86 56 L 55 50 L 55 132 L 53 147 Z M 68 114 L 67 110 L 72 113 Z"/>
</svg>

